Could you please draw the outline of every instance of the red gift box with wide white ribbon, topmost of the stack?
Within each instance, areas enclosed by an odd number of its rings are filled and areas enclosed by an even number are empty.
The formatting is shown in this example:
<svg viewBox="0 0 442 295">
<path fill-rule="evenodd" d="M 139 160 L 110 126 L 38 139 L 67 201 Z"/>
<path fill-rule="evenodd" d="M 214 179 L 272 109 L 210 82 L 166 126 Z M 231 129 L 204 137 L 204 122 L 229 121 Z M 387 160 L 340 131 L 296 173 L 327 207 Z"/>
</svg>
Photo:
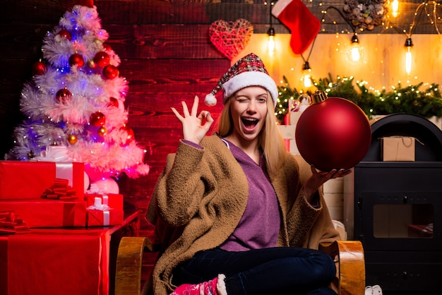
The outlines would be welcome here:
<svg viewBox="0 0 442 295">
<path fill-rule="evenodd" d="M 83 200 L 84 163 L 0 161 L 0 200 L 40 198 L 55 179 L 68 179 L 76 196 Z"/>
</svg>

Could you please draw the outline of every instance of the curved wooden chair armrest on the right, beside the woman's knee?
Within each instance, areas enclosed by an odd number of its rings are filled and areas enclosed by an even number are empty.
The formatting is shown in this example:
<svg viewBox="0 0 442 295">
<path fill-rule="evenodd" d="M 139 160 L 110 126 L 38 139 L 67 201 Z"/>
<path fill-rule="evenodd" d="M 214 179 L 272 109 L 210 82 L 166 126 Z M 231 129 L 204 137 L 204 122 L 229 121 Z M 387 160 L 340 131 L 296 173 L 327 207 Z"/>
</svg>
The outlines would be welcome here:
<svg viewBox="0 0 442 295">
<path fill-rule="evenodd" d="M 328 253 L 336 263 L 340 295 L 360 295 L 365 291 L 364 248 L 360 241 L 322 243 L 319 250 Z"/>
</svg>

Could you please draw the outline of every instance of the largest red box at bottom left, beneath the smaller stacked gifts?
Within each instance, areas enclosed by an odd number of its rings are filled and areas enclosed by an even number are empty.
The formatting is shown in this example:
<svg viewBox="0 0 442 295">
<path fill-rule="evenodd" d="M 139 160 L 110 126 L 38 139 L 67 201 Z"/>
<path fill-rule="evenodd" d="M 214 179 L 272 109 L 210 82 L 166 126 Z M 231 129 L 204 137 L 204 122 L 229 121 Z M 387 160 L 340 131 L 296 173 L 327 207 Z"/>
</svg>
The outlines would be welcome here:
<svg viewBox="0 0 442 295">
<path fill-rule="evenodd" d="M 0 294 L 109 295 L 109 229 L 0 236 Z"/>
</svg>

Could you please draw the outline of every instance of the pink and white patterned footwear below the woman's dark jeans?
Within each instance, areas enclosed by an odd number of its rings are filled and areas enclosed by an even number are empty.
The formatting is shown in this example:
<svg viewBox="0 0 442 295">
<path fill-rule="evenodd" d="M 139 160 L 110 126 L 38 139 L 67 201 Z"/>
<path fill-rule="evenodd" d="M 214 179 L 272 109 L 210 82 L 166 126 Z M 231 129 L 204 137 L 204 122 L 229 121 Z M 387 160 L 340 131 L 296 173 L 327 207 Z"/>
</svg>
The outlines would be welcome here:
<svg viewBox="0 0 442 295">
<path fill-rule="evenodd" d="M 182 284 L 170 295 L 227 295 L 225 275 L 218 275 L 215 279 L 200 284 Z"/>
</svg>

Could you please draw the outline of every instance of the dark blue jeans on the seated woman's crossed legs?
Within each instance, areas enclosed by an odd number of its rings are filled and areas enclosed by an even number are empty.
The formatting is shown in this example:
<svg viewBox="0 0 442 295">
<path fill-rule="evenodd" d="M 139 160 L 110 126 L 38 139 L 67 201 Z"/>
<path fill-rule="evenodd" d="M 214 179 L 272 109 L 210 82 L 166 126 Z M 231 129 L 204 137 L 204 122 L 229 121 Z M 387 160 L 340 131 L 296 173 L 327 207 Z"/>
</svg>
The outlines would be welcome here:
<svg viewBox="0 0 442 295">
<path fill-rule="evenodd" d="M 327 286 L 336 274 L 330 255 L 306 248 L 263 248 L 196 253 L 177 267 L 173 283 L 198 284 L 226 276 L 228 295 L 334 294 Z"/>
</svg>

